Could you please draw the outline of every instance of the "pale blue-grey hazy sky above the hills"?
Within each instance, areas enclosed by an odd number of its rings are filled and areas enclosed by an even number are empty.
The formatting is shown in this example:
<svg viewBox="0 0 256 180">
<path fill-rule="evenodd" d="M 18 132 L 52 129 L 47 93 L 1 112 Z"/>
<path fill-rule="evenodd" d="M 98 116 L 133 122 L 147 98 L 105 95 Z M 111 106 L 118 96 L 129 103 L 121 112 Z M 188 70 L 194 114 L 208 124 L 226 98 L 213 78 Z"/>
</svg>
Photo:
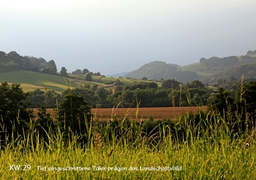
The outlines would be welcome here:
<svg viewBox="0 0 256 180">
<path fill-rule="evenodd" d="M 9 0 L 0 51 L 103 75 L 256 49 L 255 0 Z"/>
</svg>

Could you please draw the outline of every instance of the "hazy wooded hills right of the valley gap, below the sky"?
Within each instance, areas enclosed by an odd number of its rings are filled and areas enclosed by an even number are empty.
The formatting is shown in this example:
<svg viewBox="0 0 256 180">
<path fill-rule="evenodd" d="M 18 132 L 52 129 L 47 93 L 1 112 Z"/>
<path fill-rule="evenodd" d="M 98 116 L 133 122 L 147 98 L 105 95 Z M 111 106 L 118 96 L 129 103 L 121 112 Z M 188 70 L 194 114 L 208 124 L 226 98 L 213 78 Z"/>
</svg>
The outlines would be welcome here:
<svg viewBox="0 0 256 180">
<path fill-rule="evenodd" d="M 147 77 L 157 80 L 170 78 L 184 83 L 199 79 L 205 83 L 216 83 L 218 78 L 228 80 L 229 77 L 234 76 L 239 79 L 242 74 L 246 78 L 256 77 L 254 63 L 256 63 L 256 51 L 248 51 L 243 56 L 210 57 L 209 59 L 202 57 L 199 62 L 186 66 L 153 61 L 125 74 L 124 77 L 136 79 Z"/>
</svg>

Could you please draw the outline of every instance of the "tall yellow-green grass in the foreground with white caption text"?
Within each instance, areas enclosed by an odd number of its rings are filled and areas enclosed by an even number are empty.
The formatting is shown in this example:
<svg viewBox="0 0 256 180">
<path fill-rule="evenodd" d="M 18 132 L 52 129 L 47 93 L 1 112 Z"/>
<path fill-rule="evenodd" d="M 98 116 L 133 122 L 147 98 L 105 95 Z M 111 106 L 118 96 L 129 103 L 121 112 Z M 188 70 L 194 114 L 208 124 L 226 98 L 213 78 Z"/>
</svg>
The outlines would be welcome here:
<svg viewBox="0 0 256 180">
<path fill-rule="evenodd" d="M 126 116 L 120 120 L 113 117 L 108 122 L 91 119 L 86 133 L 77 135 L 69 129 L 65 132 L 68 136 L 51 127 L 42 136 L 32 123 L 22 135 L 15 131 L 9 135 L 1 123 L 0 176 L 2 179 L 254 179 L 256 130 L 235 131 L 233 127 L 239 123 L 240 119 L 232 122 L 231 117 L 213 111 L 190 112 L 177 122 L 154 120 L 152 116 L 138 122 Z M 13 124 L 14 129 L 16 126 Z M 10 165 L 21 165 L 21 169 L 10 170 Z M 23 165 L 30 165 L 31 169 L 22 170 Z M 96 170 L 97 166 L 106 169 Z M 159 166 L 178 166 L 181 170 L 149 169 Z M 46 171 L 42 169 L 45 167 Z M 59 169 L 68 167 L 91 170 Z"/>
</svg>

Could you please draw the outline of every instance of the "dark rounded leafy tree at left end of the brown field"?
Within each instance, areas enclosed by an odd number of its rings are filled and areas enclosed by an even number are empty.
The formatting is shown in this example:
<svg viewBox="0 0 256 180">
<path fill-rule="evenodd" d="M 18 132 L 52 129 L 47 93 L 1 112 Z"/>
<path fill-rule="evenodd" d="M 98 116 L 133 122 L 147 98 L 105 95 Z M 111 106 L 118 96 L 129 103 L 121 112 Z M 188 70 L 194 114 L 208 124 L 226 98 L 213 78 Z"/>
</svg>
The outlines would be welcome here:
<svg viewBox="0 0 256 180">
<path fill-rule="evenodd" d="M 59 104 L 58 123 L 64 131 L 70 128 L 73 133 L 86 131 L 86 123 L 91 118 L 91 108 L 83 95 L 70 91 Z"/>
</svg>

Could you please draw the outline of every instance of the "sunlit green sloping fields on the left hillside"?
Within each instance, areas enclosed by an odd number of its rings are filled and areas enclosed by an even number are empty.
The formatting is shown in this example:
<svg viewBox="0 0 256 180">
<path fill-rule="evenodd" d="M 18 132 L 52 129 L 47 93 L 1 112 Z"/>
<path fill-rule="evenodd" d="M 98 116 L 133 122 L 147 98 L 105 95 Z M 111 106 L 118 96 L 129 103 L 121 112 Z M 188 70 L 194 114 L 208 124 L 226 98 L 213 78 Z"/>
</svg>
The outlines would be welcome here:
<svg viewBox="0 0 256 180">
<path fill-rule="evenodd" d="M 68 85 L 72 87 L 77 87 L 88 83 L 90 85 L 104 86 L 106 89 L 113 87 L 113 82 L 116 82 L 119 79 L 124 84 L 131 83 L 133 81 L 141 81 L 135 79 L 123 79 L 123 78 L 111 78 L 111 77 L 101 77 L 101 76 L 92 76 L 94 82 L 84 81 L 83 75 L 74 75 L 70 76 L 75 78 L 54 76 L 51 74 L 36 73 L 26 70 L 18 70 L 7 73 L 0 73 L 0 82 L 7 81 L 8 83 L 20 83 L 22 89 L 25 92 L 33 91 L 35 89 L 44 89 L 44 85 L 48 90 L 55 90 L 58 93 L 62 93 L 63 90 L 67 89 Z M 44 83 L 44 85 L 43 85 Z M 156 82 L 159 87 L 161 87 L 161 82 Z"/>
</svg>

